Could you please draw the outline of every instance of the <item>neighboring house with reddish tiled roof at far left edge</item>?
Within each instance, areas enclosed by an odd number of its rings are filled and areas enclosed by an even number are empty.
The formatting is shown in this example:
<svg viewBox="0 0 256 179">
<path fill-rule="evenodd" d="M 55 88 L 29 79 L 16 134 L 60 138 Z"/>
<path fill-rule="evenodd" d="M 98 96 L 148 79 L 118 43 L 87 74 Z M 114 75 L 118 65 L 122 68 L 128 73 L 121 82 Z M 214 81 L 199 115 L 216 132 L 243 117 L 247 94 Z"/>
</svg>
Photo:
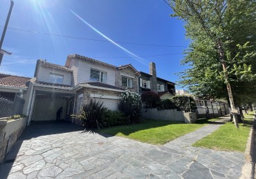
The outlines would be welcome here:
<svg viewBox="0 0 256 179">
<path fill-rule="evenodd" d="M 15 95 L 26 98 L 29 80 L 30 78 L 23 76 L 0 74 L 0 98 L 10 101 L 15 100 Z"/>
</svg>

